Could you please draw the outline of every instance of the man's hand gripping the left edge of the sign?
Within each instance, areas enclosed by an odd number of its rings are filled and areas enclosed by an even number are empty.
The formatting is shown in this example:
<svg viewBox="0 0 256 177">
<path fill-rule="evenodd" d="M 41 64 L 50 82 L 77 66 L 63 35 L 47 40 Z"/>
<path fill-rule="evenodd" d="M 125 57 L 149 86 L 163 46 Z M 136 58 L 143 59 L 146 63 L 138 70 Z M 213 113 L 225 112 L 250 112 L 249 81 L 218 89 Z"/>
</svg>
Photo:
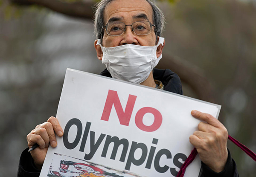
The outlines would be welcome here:
<svg viewBox="0 0 256 177">
<path fill-rule="evenodd" d="M 44 163 L 44 159 L 48 150 L 49 145 L 53 148 L 57 146 L 55 133 L 58 136 L 63 135 L 63 130 L 56 117 L 50 117 L 47 122 L 37 125 L 27 135 L 27 142 L 29 148 L 32 148 L 35 143 L 39 146 L 35 150 L 30 151 L 32 158 L 34 159 L 35 166 L 41 169 Z"/>
</svg>

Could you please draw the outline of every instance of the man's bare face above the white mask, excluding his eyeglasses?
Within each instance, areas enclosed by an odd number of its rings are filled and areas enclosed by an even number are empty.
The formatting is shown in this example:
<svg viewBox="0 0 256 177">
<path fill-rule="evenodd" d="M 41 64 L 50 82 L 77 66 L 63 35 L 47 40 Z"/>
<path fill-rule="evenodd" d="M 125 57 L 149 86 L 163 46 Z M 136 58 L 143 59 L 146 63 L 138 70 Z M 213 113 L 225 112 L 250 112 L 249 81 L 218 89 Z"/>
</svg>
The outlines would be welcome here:
<svg viewBox="0 0 256 177">
<path fill-rule="evenodd" d="M 153 9 L 146 0 L 113 0 L 106 6 L 104 11 L 105 24 L 109 21 L 121 21 L 131 25 L 135 21 L 150 21 L 153 23 Z M 141 46 L 154 46 L 156 35 L 154 27 L 148 35 L 136 35 L 132 32 L 131 26 L 126 26 L 125 32 L 120 36 L 110 36 L 104 32 L 102 46 L 114 47 L 125 44 Z"/>
</svg>

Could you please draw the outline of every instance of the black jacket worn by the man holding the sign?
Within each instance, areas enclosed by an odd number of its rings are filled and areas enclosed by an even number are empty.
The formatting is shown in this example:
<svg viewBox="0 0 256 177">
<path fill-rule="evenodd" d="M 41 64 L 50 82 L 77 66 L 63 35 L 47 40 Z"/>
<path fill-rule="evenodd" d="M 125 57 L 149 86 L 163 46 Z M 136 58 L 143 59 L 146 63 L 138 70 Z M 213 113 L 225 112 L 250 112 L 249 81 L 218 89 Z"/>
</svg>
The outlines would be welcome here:
<svg viewBox="0 0 256 177">
<path fill-rule="evenodd" d="M 111 77 L 111 74 L 107 69 L 102 71 L 100 75 Z M 164 85 L 164 90 L 177 93 L 182 95 L 182 87 L 180 78 L 177 74 L 173 73 L 171 70 L 159 70 L 153 69 L 154 79 L 159 80 Z M 26 148 L 21 156 L 19 162 L 19 168 L 17 172 L 17 177 L 39 177 L 40 171 L 35 168 L 34 161 Z M 200 172 L 200 177 L 239 177 L 236 163 L 231 158 L 230 151 L 228 151 L 228 159 L 225 168 L 220 173 L 212 171 L 207 165 L 202 162 L 202 168 Z"/>
</svg>

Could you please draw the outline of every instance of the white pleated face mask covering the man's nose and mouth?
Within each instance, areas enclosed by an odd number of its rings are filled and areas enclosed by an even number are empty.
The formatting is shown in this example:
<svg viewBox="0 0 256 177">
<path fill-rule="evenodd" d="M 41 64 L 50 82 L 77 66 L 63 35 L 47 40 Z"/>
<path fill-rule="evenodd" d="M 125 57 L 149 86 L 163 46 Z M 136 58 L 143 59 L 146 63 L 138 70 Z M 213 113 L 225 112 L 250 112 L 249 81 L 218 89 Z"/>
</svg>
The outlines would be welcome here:
<svg viewBox="0 0 256 177">
<path fill-rule="evenodd" d="M 116 47 L 103 47 L 100 39 L 96 45 L 101 46 L 102 63 L 106 65 L 113 78 L 140 84 L 157 66 L 162 54 L 157 58 L 157 47 L 163 45 L 164 38 L 159 38 L 156 46 L 138 46 L 127 44 Z"/>
</svg>

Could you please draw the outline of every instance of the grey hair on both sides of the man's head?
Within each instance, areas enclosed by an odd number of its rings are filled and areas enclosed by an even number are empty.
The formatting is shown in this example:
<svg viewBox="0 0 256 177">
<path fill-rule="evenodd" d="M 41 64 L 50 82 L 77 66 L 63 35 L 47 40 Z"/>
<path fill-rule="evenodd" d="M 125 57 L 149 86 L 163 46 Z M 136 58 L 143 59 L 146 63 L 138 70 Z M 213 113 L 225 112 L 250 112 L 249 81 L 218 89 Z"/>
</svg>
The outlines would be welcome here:
<svg viewBox="0 0 256 177">
<path fill-rule="evenodd" d="M 111 3 L 112 0 L 101 0 L 94 6 L 95 8 L 95 15 L 94 15 L 94 34 L 96 35 L 97 39 L 103 38 L 102 33 L 102 26 L 104 26 L 104 10 L 106 6 Z M 155 25 L 155 34 L 156 36 L 162 35 L 164 25 L 165 25 L 165 18 L 163 12 L 157 7 L 154 0 L 146 0 L 153 9 L 153 23 Z"/>
</svg>

